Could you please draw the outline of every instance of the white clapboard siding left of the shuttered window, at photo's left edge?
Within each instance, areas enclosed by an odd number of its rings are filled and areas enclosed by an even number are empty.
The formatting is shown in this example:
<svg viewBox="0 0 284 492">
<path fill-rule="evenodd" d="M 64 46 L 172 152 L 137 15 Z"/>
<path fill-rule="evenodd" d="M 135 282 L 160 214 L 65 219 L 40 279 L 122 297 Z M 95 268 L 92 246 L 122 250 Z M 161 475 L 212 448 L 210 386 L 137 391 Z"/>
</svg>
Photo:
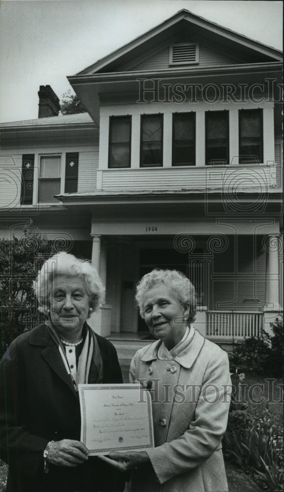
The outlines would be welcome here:
<svg viewBox="0 0 284 492">
<path fill-rule="evenodd" d="M 22 155 L 0 155 L 0 208 L 20 205 L 21 176 Z"/>
</svg>

